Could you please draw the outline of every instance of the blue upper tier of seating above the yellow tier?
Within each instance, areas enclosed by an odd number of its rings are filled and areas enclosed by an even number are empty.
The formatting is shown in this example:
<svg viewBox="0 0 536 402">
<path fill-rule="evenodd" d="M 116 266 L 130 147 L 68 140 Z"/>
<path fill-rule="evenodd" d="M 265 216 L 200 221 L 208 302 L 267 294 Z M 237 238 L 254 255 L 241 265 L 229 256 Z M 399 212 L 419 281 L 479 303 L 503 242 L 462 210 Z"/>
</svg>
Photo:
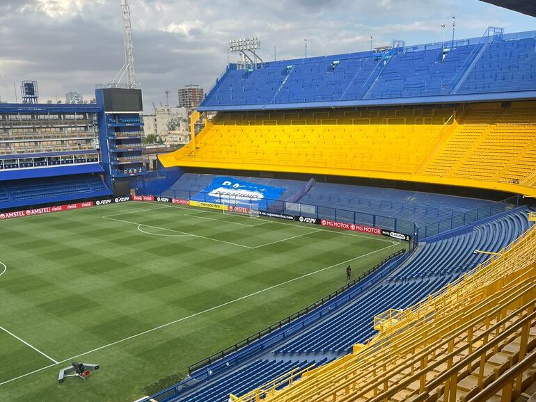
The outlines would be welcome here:
<svg viewBox="0 0 536 402">
<path fill-rule="evenodd" d="M 281 110 L 536 98 L 536 31 L 315 58 L 230 64 L 198 111 Z"/>
</svg>

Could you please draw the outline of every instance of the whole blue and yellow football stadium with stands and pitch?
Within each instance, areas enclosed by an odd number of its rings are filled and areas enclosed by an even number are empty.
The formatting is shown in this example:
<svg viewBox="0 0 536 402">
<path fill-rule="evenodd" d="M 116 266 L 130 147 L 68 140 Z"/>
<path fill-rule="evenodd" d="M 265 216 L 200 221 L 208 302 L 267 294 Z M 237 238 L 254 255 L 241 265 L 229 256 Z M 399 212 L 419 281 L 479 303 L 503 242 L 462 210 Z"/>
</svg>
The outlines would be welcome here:
<svg viewBox="0 0 536 402">
<path fill-rule="evenodd" d="M 231 40 L 152 168 L 120 4 L 127 84 L 0 103 L 0 401 L 536 401 L 536 31 Z"/>
</svg>

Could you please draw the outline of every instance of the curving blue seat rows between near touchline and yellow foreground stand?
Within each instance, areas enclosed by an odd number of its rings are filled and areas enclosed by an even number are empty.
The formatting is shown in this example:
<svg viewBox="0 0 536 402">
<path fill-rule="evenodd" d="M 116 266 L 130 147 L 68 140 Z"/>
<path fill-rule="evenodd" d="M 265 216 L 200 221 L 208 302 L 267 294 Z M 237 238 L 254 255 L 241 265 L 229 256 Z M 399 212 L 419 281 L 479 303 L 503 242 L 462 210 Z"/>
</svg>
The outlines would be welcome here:
<svg viewBox="0 0 536 402">
<path fill-rule="evenodd" d="M 251 357 L 253 360 L 238 368 L 232 366 L 223 373 L 219 371 L 214 378 L 207 378 L 181 396 L 166 401 L 226 402 L 230 392 L 244 394 L 294 367 L 308 365 L 300 360 L 315 360 L 320 365 L 348 353 L 352 345 L 375 334 L 372 328 L 375 315 L 390 308 L 409 307 L 487 259 L 486 255 L 475 255 L 475 248 L 498 251 L 528 230 L 528 211 L 520 207 L 459 230 L 459 234 L 452 233 L 446 239 L 422 243 L 386 279 L 372 287 L 363 287 L 356 298 L 334 309 L 329 316 L 305 330 L 291 332 L 290 337 L 269 341 L 271 349 L 261 356 Z"/>
</svg>

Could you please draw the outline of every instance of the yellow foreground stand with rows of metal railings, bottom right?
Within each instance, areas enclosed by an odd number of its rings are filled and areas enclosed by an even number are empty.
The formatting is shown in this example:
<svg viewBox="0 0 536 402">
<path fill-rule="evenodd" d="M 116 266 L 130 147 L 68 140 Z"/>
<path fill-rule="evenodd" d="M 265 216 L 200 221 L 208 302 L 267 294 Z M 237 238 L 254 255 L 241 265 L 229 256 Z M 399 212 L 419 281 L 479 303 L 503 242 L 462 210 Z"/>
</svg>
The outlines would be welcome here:
<svg viewBox="0 0 536 402">
<path fill-rule="evenodd" d="M 379 335 L 351 355 L 231 399 L 514 400 L 536 381 L 536 226 L 427 300 L 381 314 L 375 327 Z"/>
</svg>

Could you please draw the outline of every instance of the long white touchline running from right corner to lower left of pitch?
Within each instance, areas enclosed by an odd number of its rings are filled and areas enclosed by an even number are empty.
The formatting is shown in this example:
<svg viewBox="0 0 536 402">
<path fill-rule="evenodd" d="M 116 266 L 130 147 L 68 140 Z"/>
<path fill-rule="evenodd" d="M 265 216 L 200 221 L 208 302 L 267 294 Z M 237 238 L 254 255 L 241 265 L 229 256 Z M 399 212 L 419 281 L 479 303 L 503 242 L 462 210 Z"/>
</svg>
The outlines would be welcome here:
<svg viewBox="0 0 536 402">
<path fill-rule="evenodd" d="M 216 309 L 220 309 L 221 307 L 225 307 L 227 305 L 230 305 L 232 303 L 237 303 L 239 302 L 240 300 L 244 300 L 244 299 L 247 299 L 247 298 L 251 298 L 253 296 L 257 296 L 258 294 L 262 294 L 262 293 L 265 293 L 267 291 L 270 291 L 271 289 L 276 289 L 277 287 L 281 287 L 285 284 L 289 284 L 291 282 L 295 282 L 297 280 L 300 280 L 300 279 L 303 279 L 303 278 L 307 278 L 308 276 L 310 275 L 315 275 L 317 273 L 320 273 L 320 272 L 323 272 L 323 271 L 326 271 L 328 269 L 331 269 L 331 268 L 335 268 L 336 266 L 340 266 L 340 265 L 345 265 L 345 264 L 348 264 L 349 262 L 353 262 L 353 261 L 356 261 L 356 259 L 361 259 L 363 257 L 368 257 L 369 255 L 372 255 L 372 254 L 375 254 L 376 252 L 379 252 L 379 251 L 382 251 L 382 250 L 386 250 L 387 248 L 391 248 L 393 246 L 397 246 L 397 244 L 391 244 L 391 246 L 386 246 L 384 248 L 379 248 L 378 250 L 374 250 L 374 251 L 371 251 L 371 252 L 368 252 L 366 254 L 363 254 L 363 255 L 359 255 L 358 257 L 354 257 L 354 258 L 351 258 L 351 259 L 347 259 L 346 261 L 343 261 L 343 262 L 338 262 L 337 264 L 333 264 L 331 266 L 326 266 L 325 268 L 320 268 L 320 269 L 317 269 L 317 271 L 313 271 L 313 272 L 310 272 L 310 273 L 306 273 L 304 275 L 301 275 L 301 276 L 298 276 L 296 278 L 292 278 L 290 280 L 286 280 L 285 282 L 281 282 L 281 283 L 278 283 L 278 284 L 274 284 L 273 286 L 271 287 L 267 287 L 266 289 L 262 289 L 260 291 L 255 291 L 253 292 L 252 294 L 248 294 L 246 296 L 242 296 L 242 297 L 239 297 L 239 298 L 236 298 L 234 300 L 229 300 L 228 302 L 226 303 L 222 303 L 221 305 L 217 305 L 217 306 L 214 306 L 214 307 L 210 307 L 209 309 L 205 309 L 201 312 L 196 312 L 194 314 L 190 314 L 189 316 L 185 316 L 185 317 L 182 317 L 180 319 L 177 319 L 175 321 L 171 321 L 171 322 L 168 322 L 168 323 L 165 323 L 163 325 L 159 325 L 155 328 L 151 328 L 150 330 L 145 330 L 143 332 L 139 332 L 138 334 L 136 335 L 131 335 L 129 337 L 126 337 L 126 338 L 123 338 L 123 339 L 119 339 L 118 341 L 114 341 L 114 342 L 111 342 L 110 344 L 107 344 L 107 345 L 104 345 L 104 346 L 100 346 L 98 348 L 95 348 L 91 351 L 87 351 L 87 352 L 84 352 L 84 353 L 80 353 L 79 355 L 76 355 L 76 356 L 72 356 L 72 357 L 69 357 L 68 359 L 65 359 L 65 360 L 61 360 L 61 362 L 56 362 L 54 364 L 49 364 L 48 366 L 45 366 L 45 367 L 41 367 L 40 369 L 37 369 L 37 370 L 33 370 L 29 373 L 26 373 L 26 374 L 22 374 L 21 376 L 17 376 L 15 378 L 11 378 L 10 380 L 6 380 L 6 381 L 3 381 L 3 383 L 0 383 L 0 386 L 1 385 L 5 385 L 7 383 L 11 383 L 15 380 L 19 380 L 20 378 L 24 378 L 24 377 L 27 377 L 27 376 L 31 376 L 32 374 L 35 374 L 35 373 L 38 373 L 40 371 L 43 371 L 43 370 L 46 370 L 46 369 L 49 369 L 50 367 L 54 367 L 56 366 L 57 364 L 62 364 L 62 363 L 65 363 L 65 362 L 70 362 L 74 359 L 77 359 L 78 357 L 82 357 L 82 356 L 85 356 L 85 355 L 88 355 L 90 353 L 95 353 L 97 351 L 102 351 L 102 349 L 105 349 L 105 348 L 109 348 L 111 346 L 115 346 L 117 344 L 121 344 L 125 341 L 129 341 L 130 339 L 134 339 L 134 338 L 137 338 L 137 337 L 141 337 L 142 335 L 146 335 L 150 332 L 155 332 L 157 330 L 160 330 L 161 328 L 166 328 L 168 327 L 169 325 L 173 325 L 175 323 L 180 323 L 181 321 L 186 321 L 188 319 L 192 319 L 196 316 L 200 316 L 201 314 L 205 314 L 207 312 L 212 312 Z"/>
</svg>

